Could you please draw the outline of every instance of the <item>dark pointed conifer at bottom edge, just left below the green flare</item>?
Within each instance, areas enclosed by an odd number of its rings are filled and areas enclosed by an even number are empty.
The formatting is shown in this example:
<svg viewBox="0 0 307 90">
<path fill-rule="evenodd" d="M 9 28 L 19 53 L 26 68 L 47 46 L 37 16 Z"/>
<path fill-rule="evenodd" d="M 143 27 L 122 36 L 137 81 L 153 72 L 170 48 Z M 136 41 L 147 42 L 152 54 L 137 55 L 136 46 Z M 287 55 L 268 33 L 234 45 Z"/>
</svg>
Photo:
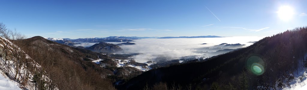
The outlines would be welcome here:
<svg viewBox="0 0 307 90">
<path fill-rule="evenodd" d="M 248 78 L 246 76 L 246 73 L 243 71 L 241 76 L 239 77 L 239 89 L 240 90 L 247 90 L 248 88 L 249 88 Z"/>
</svg>

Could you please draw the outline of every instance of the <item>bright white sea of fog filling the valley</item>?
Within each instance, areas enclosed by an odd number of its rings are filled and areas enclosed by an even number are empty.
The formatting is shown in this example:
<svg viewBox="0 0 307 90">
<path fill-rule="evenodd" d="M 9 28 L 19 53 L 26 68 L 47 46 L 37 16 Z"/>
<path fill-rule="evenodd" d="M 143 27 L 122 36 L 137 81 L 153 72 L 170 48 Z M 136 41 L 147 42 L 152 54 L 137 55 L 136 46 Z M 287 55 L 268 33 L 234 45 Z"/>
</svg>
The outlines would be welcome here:
<svg viewBox="0 0 307 90">
<path fill-rule="evenodd" d="M 120 47 L 124 49 L 124 53 L 141 53 L 140 55 L 135 56 L 134 59 L 137 62 L 146 62 L 148 60 L 179 59 L 182 56 L 192 55 L 211 57 L 228 52 L 230 49 L 252 45 L 254 43 L 253 41 L 258 41 L 262 38 L 264 37 L 151 38 L 134 40 L 132 43 L 135 43 L 136 45 L 122 45 Z M 119 44 L 118 42 L 108 43 Z M 236 45 L 220 45 L 222 43 Z"/>
</svg>

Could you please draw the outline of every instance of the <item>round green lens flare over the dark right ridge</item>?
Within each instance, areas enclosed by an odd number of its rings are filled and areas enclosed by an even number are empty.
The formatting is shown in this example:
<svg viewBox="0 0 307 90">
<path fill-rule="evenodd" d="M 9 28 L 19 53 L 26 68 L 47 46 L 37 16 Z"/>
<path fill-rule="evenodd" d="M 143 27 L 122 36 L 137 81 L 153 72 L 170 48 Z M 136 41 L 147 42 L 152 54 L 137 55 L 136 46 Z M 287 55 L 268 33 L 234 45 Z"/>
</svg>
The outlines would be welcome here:
<svg viewBox="0 0 307 90">
<path fill-rule="evenodd" d="M 262 75 L 264 73 L 263 60 L 258 56 L 251 56 L 247 59 L 247 69 L 255 75 Z"/>
</svg>

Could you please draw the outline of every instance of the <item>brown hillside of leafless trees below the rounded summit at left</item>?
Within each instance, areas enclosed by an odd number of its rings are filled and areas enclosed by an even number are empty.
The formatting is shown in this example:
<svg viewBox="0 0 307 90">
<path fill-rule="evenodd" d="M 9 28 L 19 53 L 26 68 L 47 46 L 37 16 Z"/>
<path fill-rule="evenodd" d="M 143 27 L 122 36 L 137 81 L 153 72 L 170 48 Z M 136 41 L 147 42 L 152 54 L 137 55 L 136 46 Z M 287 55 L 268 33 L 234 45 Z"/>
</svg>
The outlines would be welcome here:
<svg viewBox="0 0 307 90">
<path fill-rule="evenodd" d="M 96 52 L 80 52 L 68 45 L 61 45 L 37 36 L 22 40 L 19 45 L 32 59 L 42 66 L 53 84 L 60 90 L 102 90 L 113 87 L 108 75 L 112 71 L 99 67 L 87 59 L 107 59 Z M 48 84 L 49 85 L 49 84 Z"/>
</svg>

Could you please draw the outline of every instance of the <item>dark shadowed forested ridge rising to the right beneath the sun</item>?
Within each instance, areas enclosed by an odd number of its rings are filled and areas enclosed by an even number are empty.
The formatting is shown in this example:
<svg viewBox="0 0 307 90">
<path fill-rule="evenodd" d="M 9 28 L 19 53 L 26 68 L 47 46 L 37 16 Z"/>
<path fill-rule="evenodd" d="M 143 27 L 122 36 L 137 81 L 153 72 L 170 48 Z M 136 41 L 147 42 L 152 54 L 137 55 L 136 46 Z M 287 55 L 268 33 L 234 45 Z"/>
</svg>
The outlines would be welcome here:
<svg viewBox="0 0 307 90">
<path fill-rule="evenodd" d="M 277 81 L 291 79 L 289 74 L 297 73 L 305 62 L 306 41 L 306 27 L 287 30 L 204 62 L 149 70 L 117 87 L 121 90 L 278 88 L 283 84 L 275 86 Z"/>
</svg>

